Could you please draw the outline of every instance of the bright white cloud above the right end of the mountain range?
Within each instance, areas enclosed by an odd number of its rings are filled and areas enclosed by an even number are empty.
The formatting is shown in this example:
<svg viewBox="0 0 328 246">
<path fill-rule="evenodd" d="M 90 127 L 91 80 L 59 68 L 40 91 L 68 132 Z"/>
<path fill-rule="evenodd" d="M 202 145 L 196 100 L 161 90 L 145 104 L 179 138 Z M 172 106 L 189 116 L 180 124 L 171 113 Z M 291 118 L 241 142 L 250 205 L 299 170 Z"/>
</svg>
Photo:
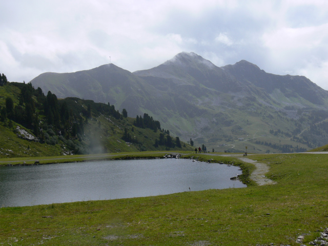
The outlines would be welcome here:
<svg viewBox="0 0 328 246">
<path fill-rule="evenodd" d="M 289 71 L 308 76 L 324 89 L 327 85 L 328 24 L 302 28 L 282 28 L 264 33 L 268 62 L 275 72 Z"/>
</svg>

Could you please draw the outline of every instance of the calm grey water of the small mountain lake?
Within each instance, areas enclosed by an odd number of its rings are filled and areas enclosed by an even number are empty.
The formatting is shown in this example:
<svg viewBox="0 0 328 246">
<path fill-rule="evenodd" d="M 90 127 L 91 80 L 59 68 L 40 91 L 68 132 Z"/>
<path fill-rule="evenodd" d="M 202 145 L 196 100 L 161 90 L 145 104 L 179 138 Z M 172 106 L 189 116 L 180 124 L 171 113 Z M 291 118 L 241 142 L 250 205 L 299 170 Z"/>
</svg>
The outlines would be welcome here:
<svg viewBox="0 0 328 246">
<path fill-rule="evenodd" d="M 238 167 L 187 159 L 111 160 L 0 167 L 0 207 L 246 187 Z"/>
</svg>

